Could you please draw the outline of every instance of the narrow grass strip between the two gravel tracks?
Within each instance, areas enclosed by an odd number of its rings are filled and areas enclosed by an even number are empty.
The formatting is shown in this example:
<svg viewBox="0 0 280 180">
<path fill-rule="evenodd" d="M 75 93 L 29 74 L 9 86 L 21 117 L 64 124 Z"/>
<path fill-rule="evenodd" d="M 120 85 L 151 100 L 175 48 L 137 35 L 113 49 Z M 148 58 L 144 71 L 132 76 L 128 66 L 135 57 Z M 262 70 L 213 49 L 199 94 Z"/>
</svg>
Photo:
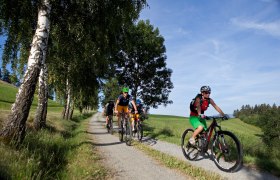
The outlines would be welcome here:
<svg viewBox="0 0 280 180">
<path fill-rule="evenodd" d="M 209 172 L 202 168 L 192 166 L 186 163 L 186 161 L 179 160 L 166 153 L 162 153 L 158 150 L 152 149 L 151 147 L 145 144 L 139 143 L 137 141 L 134 141 L 134 144 L 138 149 L 142 150 L 144 153 L 153 157 L 155 160 L 165 165 L 166 167 L 177 170 L 182 174 L 188 176 L 187 179 L 209 179 L 209 180 L 222 179 L 222 177 L 216 173 Z"/>
</svg>

